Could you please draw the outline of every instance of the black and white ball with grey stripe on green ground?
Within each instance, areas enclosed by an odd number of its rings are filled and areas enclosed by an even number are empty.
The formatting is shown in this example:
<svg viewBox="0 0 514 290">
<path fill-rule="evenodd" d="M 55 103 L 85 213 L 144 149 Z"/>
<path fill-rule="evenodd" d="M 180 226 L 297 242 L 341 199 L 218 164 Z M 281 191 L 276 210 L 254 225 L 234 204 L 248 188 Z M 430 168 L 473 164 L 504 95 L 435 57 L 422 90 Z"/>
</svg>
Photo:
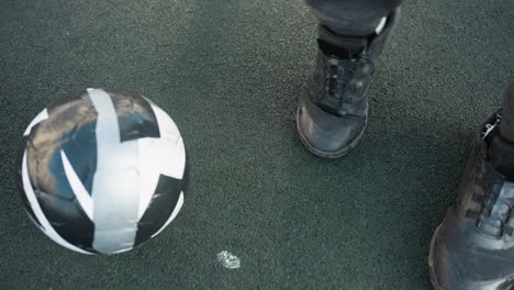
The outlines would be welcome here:
<svg viewBox="0 0 514 290">
<path fill-rule="evenodd" d="M 182 137 L 165 111 L 135 92 L 88 89 L 32 121 L 16 178 L 26 212 L 54 242 L 115 254 L 177 216 L 187 167 Z"/>
</svg>

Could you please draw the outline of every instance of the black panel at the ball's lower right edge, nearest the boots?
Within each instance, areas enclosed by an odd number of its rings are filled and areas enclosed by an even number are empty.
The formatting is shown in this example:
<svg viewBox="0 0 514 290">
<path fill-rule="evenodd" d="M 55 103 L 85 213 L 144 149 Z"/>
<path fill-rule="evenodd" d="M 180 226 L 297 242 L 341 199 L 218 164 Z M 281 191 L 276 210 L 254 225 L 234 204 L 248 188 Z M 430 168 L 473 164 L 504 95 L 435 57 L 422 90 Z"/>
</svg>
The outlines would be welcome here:
<svg viewBox="0 0 514 290">
<path fill-rule="evenodd" d="M 181 193 L 181 180 L 160 175 L 152 201 L 137 224 L 135 245 L 159 231 L 172 214 Z"/>
</svg>

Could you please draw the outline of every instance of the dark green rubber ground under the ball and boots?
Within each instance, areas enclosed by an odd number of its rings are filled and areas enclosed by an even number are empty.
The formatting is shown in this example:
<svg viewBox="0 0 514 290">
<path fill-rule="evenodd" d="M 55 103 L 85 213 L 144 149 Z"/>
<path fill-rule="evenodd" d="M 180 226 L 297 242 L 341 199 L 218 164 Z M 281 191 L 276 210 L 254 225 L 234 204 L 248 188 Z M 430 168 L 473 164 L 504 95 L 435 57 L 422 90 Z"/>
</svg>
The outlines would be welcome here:
<svg viewBox="0 0 514 290">
<path fill-rule="evenodd" d="M 514 80 L 513 19 L 512 0 L 407 0 L 364 140 L 324 160 L 295 132 L 316 33 L 300 0 L 0 0 L 0 288 L 431 289 L 432 233 Z M 54 244 L 13 180 L 29 122 L 90 87 L 153 99 L 192 163 L 177 220 L 122 255 Z"/>
</svg>

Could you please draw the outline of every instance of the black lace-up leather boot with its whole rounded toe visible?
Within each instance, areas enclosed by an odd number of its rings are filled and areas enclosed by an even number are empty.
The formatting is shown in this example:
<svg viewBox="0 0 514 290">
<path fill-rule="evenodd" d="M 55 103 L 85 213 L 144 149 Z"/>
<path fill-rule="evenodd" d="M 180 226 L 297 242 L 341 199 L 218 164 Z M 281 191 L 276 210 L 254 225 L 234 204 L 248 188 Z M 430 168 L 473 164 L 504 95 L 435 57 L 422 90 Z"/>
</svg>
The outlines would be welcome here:
<svg viewBox="0 0 514 290">
<path fill-rule="evenodd" d="M 297 114 L 300 140 L 313 154 L 342 157 L 359 142 L 368 120 L 366 91 L 398 13 L 384 18 L 380 31 L 367 36 L 336 35 L 320 26 L 316 66 Z"/>
</svg>

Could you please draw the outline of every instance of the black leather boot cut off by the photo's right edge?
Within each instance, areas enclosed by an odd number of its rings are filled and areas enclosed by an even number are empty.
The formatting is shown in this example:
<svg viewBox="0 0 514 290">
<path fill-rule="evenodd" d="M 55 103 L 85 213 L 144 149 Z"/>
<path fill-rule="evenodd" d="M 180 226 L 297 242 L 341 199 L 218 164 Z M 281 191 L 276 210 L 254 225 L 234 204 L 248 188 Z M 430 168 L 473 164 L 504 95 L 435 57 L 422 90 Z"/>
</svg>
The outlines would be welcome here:
<svg viewBox="0 0 514 290">
<path fill-rule="evenodd" d="M 476 135 L 457 202 L 431 244 L 437 290 L 514 289 L 514 82 Z"/>
</svg>

